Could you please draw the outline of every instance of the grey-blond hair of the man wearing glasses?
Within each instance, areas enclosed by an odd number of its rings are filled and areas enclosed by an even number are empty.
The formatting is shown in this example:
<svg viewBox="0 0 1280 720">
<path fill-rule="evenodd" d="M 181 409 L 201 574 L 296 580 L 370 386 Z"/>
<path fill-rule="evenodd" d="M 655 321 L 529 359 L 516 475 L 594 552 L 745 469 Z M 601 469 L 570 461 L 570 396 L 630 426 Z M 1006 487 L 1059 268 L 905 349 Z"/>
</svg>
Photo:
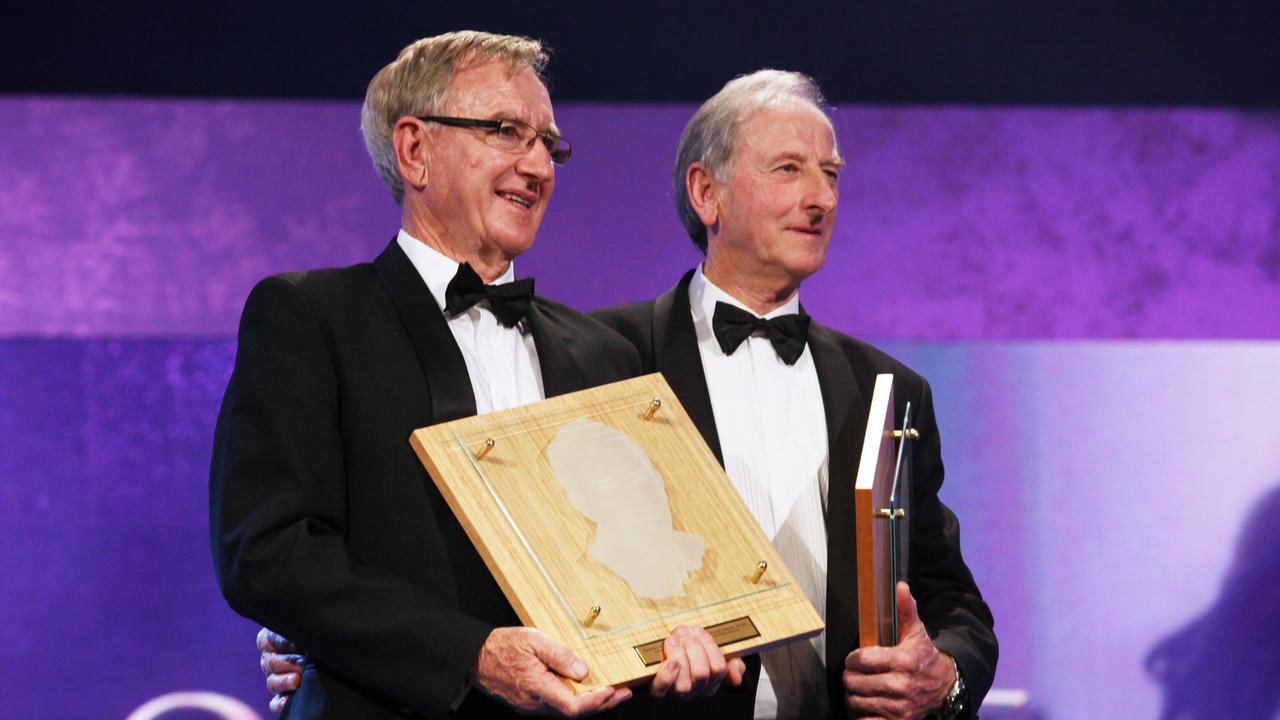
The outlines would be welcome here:
<svg viewBox="0 0 1280 720">
<path fill-rule="evenodd" d="M 548 53 L 540 41 L 474 29 L 413 41 L 369 82 L 360 132 L 378 177 L 397 205 L 404 202 L 404 183 L 392 142 L 396 123 L 406 115 L 439 114 L 454 72 L 492 60 L 506 60 L 512 72 L 527 68 L 547 85 Z"/>
</svg>

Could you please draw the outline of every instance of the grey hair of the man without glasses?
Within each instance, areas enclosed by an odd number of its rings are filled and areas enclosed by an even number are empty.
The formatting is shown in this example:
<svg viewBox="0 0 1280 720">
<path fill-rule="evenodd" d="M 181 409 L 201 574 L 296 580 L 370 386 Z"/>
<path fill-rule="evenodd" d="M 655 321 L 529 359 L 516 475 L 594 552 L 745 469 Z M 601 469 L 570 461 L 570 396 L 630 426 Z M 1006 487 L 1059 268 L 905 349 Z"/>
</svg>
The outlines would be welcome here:
<svg viewBox="0 0 1280 720">
<path fill-rule="evenodd" d="M 676 164 L 671 170 L 676 191 L 676 211 L 689 237 L 707 254 L 707 225 L 694 211 L 685 177 L 689 167 L 700 163 L 723 182 L 737 150 L 737 128 L 760 110 L 801 102 L 813 105 L 829 119 L 818 83 L 804 73 L 763 69 L 728 81 L 694 113 L 680 136 Z"/>
</svg>

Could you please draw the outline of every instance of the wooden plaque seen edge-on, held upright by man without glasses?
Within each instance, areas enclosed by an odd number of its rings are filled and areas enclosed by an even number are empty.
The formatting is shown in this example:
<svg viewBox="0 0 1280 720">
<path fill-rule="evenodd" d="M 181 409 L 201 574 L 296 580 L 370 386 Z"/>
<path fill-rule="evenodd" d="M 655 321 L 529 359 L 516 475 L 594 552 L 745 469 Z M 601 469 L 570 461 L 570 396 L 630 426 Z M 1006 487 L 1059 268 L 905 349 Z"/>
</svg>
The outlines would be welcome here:
<svg viewBox="0 0 1280 720">
<path fill-rule="evenodd" d="M 906 579 L 910 533 L 910 427 L 893 420 L 893 375 L 876 375 L 867 434 L 854 480 L 858 561 L 858 644 L 897 644 L 897 580 Z M 899 442 L 893 442 L 897 436 Z"/>
</svg>

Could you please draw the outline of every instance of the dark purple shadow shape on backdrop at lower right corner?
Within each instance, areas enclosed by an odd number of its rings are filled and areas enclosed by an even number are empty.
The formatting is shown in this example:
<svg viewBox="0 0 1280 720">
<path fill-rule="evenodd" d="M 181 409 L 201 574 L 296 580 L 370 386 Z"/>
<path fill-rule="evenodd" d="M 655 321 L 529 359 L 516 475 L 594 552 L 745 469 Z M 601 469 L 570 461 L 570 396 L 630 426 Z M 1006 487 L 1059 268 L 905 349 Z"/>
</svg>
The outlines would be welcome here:
<svg viewBox="0 0 1280 720">
<path fill-rule="evenodd" d="M 1217 600 L 1147 655 L 1160 720 L 1280 717 L 1280 486 L 1249 512 Z"/>
</svg>

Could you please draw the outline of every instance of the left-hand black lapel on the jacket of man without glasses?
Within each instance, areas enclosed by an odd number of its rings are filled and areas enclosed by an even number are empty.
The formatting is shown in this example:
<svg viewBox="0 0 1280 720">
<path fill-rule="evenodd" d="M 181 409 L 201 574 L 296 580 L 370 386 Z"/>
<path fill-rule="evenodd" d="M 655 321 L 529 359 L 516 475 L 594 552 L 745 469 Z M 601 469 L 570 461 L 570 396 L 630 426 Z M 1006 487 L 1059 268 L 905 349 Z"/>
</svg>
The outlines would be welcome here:
<svg viewBox="0 0 1280 720">
<path fill-rule="evenodd" d="M 676 397 L 685 406 L 694 427 L 703 433 L 703 439 L 723 466 L 724 456 L 721 454 L 719 433 L 716 432 L 712 396 L 707 392 L 703 356 L 698 351 L 698 334 L 689 310 L 689 281 L 692 277 L 694 272 L 689 270 L 676 287 L 654 301 L 653 354 L 658 359 L 658 370 L 667 378 L 671 389 L 676 391 Z"/>
</svg>

